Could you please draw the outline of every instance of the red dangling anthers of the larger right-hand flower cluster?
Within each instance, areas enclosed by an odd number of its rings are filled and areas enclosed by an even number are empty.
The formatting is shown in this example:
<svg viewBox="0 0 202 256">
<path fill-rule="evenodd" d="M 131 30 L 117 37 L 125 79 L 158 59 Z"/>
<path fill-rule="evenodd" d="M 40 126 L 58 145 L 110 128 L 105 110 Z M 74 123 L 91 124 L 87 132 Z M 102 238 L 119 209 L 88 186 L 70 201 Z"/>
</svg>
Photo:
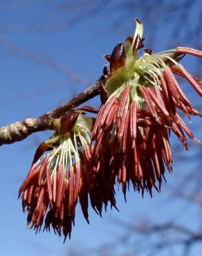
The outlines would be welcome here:
<svg viewBox="0 0 202 256">
<path fill-rule="evenodd" d="M 122 92 L 120 99 L 111 97 L 102 105 L 95 121 L 91 139 L 95 140 L 92 154 L 94 168 L 100 173 L 106 172 L 111 176 L 111 183 L 122 183 L 122 191 L 126 194 L 127 183 L 131 181 L 134 190 L 149 190 L 156 187 L 155 176 L 160 184 L 164 177 L 165 165 L 172 171 L 172 149 L 169 144 L 169 131 L 174 131 L 181 143 L 187 149 L 187 140 L 183 131 L 194 138 L 192 131 L 178 115 L 176 108 L 187 115 L 202 116 L 193 109 L 169 68 L 159 77 L 162 90 L 154 90 L 142 86 L 140 89 L 147 109 L 138 108 L 132 100 L 127 109 L 125 104 L 129 98 L 129 87 Z M 178 72 L 179 73 L 179 72 Z M 202 95 L 199 82 L 191 75 L 180 73 L 194 89 Z M 116 127 L 116 128 L 115 128 Z M 111 136 L 116 129 L 116 134 Z M 143 134 L 140 132 L 143 129 Z"/>
</svg>

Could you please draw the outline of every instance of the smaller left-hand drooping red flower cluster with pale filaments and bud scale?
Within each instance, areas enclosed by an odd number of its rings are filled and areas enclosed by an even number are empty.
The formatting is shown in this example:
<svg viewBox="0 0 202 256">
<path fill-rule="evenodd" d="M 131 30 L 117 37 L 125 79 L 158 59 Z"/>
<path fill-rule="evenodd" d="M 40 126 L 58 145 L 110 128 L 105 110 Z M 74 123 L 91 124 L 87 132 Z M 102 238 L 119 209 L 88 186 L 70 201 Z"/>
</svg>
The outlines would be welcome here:
<svg viewBox="0 0 202 256">
<path fill-rule="evenodd" d="M 88 171 L 82 154 L 89 149 L 93 119 L 80 112 L 67 113 L 54 121 L 55 134 L 39 145 L 33 165 L 19 189 L 28 224 L 36 232 L 42 228 L 66 238 L 71 236 L 78 198 L 88 219 Z M 44 152 L 49 151 L 44 156 Z"/>
</svg>

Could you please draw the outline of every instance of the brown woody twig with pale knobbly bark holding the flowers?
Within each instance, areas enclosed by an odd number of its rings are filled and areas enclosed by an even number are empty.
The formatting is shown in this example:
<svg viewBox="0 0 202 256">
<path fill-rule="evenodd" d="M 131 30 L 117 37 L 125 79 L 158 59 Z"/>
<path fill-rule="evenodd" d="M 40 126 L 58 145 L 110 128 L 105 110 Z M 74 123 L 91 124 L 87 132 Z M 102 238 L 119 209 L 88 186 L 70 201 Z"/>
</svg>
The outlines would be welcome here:
<svg viewBox="0 0 202 256">
<path fill-rule="evenodd" d="M 91 86 L 82 93 L 77 94 L 74 98 L 64 102 L 55 109 L 44 113 L 44 115 L 39 116 L 39 118 L 26 118 L 21 122 L 14 122 L 11 125 L 1 127 L 0 146 L 24 140 L 36 131 L 53 129 L 52 121 L 54 118 L 59 118 L 66 113 L 66 111 L 79 106 L 100 93 L 101 80 L 102 77 L 100 77 L 94 84 L 91 84 Z"/>
</svg>

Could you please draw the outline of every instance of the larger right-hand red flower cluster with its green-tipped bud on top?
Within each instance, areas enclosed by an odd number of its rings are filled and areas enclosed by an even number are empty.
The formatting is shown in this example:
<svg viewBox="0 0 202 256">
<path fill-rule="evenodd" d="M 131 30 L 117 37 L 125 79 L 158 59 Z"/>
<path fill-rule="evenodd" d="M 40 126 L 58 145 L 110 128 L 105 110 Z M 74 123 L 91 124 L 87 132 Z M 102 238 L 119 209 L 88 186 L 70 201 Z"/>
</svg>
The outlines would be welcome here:
<svg viewBox="0 0 202 256">
<path fill-rule="evenodd" d="M 143 24 L 138 19 L 136 22 L 134 37 L 118 44 L 111 56 L 105 56 L 110 71 L 104 67 L 102 107 L 91 134 L 95 141 L 92 163 L 94 168 L 100 167 L 100 172 L 105 163 L 111 183 L 122 183 L 124 195 L 131 181 L 134 190 L 146 189 L 152 196 L 153 186 L 160 190 L 165 166 L 172 171 L 169 131 L 185 149 L 184 132 L 196 140 L 176 109 L 189 118 L 201 114 L 192 107 L 174 74 L 184 77 L 202 96 L 201 82 L 178 64 L 186 53 L 202 57 L 202 52 L 178 47 L 152 54 L 144 48 L 145 53 L 138 59 L 138 50 L 143 48 Z"/>
</svg>

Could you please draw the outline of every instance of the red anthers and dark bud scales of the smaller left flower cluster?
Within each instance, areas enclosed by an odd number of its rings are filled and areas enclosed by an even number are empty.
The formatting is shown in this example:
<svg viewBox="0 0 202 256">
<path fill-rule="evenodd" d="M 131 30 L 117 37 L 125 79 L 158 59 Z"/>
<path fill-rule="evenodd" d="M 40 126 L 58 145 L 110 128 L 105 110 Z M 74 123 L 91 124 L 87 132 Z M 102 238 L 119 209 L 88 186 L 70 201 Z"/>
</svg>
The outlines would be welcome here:
<svg viewBox="0 0 202 256">
<path fill-rule="evenodd" d="M 68 113 L 61 118 L 63 134 L 71 130 L 78 114 Z M 59 143 L 59 140 L 55 140 L 53 146 Z M 50 224 L 52 224 L 54 232 L 57 231 L 59 236 L 63 232 L 66 238 L 67 235 L 69 237 L 71 235 L 72 223 L 75 219 L 75 205 L 81 191 L 80 204 L 85 205 L 84 196 L 87 194 L 84 193 L 84 183 L 81 178 L 84 175 L 83 163 L 80 161 L 71 167 L 68 174 L 62 163 L 53 163 L 54 166 L 48 166 L 50 154 L 46 154 L 38 163 L 44 152 L 50 149 L 50 145 L 46 142 L 39 145 L 30 172 L 19 188 L 19 196 L 22 194 L 23 211 L 28 212 L 27 221 L 30 228 L 34 228 L 37 233 L 42 228 L 46 214 L 44 230 L 50 231 Z"/>
</svg>

